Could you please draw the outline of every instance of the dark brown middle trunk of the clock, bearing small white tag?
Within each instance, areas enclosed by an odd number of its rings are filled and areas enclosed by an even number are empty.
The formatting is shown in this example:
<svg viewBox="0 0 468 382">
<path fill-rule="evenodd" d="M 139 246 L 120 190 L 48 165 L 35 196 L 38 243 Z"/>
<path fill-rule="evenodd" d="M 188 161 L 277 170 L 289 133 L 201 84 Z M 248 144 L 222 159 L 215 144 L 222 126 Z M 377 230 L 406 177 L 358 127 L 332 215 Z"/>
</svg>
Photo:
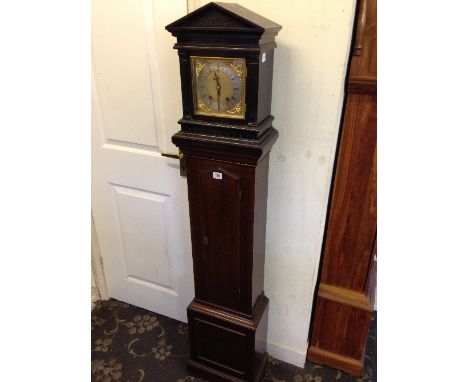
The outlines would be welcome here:
<svg viewBox="0 0 468 382">
<path fill-rule="evenodd" d="M 195 299 L 251 316 L 263 292 L 268 155 L 257 166 L 189 156 L 187 170 Z"/>
</svg>

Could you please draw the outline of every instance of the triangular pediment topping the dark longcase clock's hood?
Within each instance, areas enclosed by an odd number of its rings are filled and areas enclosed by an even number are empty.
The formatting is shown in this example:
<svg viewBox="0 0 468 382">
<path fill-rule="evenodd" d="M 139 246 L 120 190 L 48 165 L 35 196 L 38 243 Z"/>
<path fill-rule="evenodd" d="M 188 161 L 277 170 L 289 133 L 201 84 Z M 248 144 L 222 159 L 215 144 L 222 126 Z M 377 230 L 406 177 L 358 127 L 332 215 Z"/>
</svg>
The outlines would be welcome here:
<svg viewBox="0 0 468 382">
<path fill-rule="evenodd" d="M 279 31 L 281 26 L 247 8 L 233 3 L 209 3 L 166 26 L 173 34 L 178 31 L 256 31 L 272 29 Z"/>
</svg>

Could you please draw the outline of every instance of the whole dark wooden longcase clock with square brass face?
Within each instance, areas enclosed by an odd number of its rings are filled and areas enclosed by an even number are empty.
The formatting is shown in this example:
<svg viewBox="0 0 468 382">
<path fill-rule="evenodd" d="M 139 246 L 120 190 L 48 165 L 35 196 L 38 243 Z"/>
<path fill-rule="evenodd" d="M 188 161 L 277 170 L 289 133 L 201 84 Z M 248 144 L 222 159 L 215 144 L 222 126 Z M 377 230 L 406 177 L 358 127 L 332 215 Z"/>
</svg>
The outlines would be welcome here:
<svg viewBox="0 0 468 382">
<path fill-rule="evenodd" d="M 189 370 L 210 381 L 258 381 L 267 354 L 263 293 L 271 94 L 281 26 L 232 3 L 168 25 L 177 37 L 195 298 Z"/>
</svg>

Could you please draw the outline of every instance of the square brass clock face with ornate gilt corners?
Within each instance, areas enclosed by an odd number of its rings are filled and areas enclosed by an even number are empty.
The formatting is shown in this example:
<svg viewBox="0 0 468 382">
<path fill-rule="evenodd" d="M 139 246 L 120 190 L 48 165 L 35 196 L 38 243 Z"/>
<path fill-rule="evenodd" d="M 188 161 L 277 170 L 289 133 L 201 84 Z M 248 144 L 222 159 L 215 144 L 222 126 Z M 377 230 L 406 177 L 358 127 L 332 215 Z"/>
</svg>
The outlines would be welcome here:
<svg viewBox="0 0 468 382">
<path fill-rule="evenodd" d="M 194 112 L 223 118 L 245 117 L 245 60 L 191 57 Z"/>
</svg>

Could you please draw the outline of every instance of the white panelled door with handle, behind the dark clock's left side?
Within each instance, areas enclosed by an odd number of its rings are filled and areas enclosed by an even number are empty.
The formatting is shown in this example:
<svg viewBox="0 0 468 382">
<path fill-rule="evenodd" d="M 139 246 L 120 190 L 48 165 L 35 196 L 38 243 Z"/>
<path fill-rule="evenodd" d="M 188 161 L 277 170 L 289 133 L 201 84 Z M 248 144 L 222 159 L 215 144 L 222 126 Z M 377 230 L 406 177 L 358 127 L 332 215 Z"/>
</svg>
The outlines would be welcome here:
<svg viewBox="0 0 468 382">
<path fill-rule="evenodd" d="M 194 295 L 186 179 L 170 138 L 186 0 L 93 0 L 92 210 L 110 297 L 186 322 Z"/>
</svg>

